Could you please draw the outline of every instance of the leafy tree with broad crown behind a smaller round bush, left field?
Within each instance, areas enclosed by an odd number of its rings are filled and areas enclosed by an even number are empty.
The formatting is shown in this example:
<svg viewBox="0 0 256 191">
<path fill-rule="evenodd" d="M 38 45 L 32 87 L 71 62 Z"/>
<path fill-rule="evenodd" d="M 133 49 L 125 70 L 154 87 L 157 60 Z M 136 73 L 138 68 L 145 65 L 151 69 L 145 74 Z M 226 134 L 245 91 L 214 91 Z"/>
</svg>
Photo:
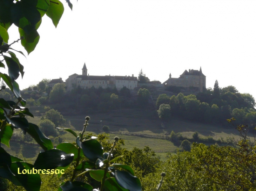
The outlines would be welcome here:
<svg viewBox="0 0 256 191">
<path fill-rule="evenodd" d="M 49 119 L 54 123 L 56 127 L 62 126 L 66 123 L 66 120 L 63 118 L 63 115 L 60 114 L 58 110 L 50 109 L 45 112 L 45 115 L 42 117 L 42 120 Z"/>
</svg>

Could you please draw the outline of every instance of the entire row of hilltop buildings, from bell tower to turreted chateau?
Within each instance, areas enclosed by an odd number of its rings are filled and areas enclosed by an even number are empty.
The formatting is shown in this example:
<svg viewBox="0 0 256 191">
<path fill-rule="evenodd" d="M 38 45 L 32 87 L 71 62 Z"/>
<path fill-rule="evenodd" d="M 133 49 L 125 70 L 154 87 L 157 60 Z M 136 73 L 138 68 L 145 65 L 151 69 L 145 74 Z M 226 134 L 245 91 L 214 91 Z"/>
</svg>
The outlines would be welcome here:
<svg viewBox="0 0 256 191">
<path fill-rule="evenodd" d="M 81 88 L 117 88 L 121 89 L 123 87 L 127 87 L 129 89 L 134 89 L 138 87 L 138 79 L 133 74 L 132 76 L 92 76 L 87 74 L 88 70 L 86 65 L 83 65 L 82 74 L 72 74 L 68 76 L 65 82 L 61 78 L 52 79 L 49 82 L 49 86 L 53 87 L 56 83 L 65 83 L 67 87 L 67 91 L 72 90 L 74 87 L 80 86 Z M 148 78 L 147 78 L 148 79 Z M 189 69 L 189 71 L 185 70 L 179 78 L 171 78 L 171 74 L 169 75 L 169 79 L 165 82 L 161 83 L 159 81 L 150 82 L 148 79 L 148 84 L 153 85 L 156 83 L 158 86 L 178 86 L 183 87 L 184 90 L 194 90 L 194 91 L 203 91 L 203 88 L 206 87 L 206 76 L 202 73 L 202 69 L 194 70 Z"/>
</svg>

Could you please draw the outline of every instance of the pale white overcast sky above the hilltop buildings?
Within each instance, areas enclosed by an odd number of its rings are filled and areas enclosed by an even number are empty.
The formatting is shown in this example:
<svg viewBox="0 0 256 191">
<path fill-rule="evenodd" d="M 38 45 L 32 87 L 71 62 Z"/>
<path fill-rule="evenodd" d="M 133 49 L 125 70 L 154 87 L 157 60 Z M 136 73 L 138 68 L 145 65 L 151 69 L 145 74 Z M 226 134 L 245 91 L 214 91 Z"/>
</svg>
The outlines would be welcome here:
<svg viewBox="0 0 256 191">
<path fill-rule="evenodd" d="M 256 97 L 255 0 L 71 0 L 73 11 L 62 2 L 58 27 L 45 15 L 35 50 L 19 56 L 20 89 L 43 78 L 65 81 L 86 63 L 89 75 L 138 76 L 142 69 L 161 82 L 202 67 L 207 88 L 218 80 Z M 16 27 L 8 32 L 9 43 L 19 38 Z"/>
</svg>

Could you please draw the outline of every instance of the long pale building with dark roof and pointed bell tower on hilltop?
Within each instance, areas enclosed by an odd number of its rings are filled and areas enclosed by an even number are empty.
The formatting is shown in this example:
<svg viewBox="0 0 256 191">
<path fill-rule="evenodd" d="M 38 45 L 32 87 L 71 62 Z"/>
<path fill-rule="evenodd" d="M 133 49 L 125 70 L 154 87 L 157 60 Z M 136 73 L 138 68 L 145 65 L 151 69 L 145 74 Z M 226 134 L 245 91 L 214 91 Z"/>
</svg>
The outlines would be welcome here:
<svg viewBox="0 0 256 191">
<path fill-rule="evenodd" d="M 117 88 L 121 89 L 124 86 L 126 86 L 129 89 L 134 89 L 137 87 L 138 80 L 137 77 L 132 76 L 90 76 L 87 74 L 87 68 L 86 65 L 83 65 L 82 68 L 82 75 L 78 74 L 72 74 L 68 76 L 68 79 L 66 79 L 66 87 L 67 91 L 70 91 L 74 87 L 80 86 L 81 88 Z"/>
</svg>

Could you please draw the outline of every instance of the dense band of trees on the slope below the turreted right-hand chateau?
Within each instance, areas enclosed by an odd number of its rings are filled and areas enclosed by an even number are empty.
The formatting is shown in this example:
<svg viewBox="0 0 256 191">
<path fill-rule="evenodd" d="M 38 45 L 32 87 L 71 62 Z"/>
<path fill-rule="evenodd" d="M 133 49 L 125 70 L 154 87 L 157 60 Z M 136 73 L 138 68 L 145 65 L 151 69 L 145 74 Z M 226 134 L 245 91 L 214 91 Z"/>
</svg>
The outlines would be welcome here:
<svg viewBox="0 0 256 191">
<path fill-rule="evenodd" d="M 156 101 L 159 117 L 174 116 L 204 123 L 226 123 L 234 117 L 238 124 L 256 124 L 255 99 L 252 95 L 239 93 L 234 86 L 208 88 L 203 93 L 169 97 L 161 94 Z"/>
</svg>

